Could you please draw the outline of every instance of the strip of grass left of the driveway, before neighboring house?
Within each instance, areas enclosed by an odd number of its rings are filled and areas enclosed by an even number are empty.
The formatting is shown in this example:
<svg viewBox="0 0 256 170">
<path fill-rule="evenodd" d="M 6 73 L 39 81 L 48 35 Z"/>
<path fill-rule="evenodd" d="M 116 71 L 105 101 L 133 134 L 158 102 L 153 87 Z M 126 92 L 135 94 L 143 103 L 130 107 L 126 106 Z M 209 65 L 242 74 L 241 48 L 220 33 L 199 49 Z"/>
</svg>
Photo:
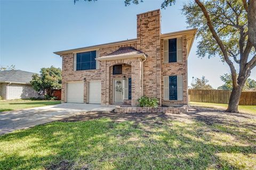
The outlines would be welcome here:
<svg viewBox="0 0 256 170">
<path fill-rule="evenodd" d="M 0 100 L 0 112 L 15 111 L 19 109 L 41 107 L 60 104 L 60 101 L 54 100 Z"/>
</svg>

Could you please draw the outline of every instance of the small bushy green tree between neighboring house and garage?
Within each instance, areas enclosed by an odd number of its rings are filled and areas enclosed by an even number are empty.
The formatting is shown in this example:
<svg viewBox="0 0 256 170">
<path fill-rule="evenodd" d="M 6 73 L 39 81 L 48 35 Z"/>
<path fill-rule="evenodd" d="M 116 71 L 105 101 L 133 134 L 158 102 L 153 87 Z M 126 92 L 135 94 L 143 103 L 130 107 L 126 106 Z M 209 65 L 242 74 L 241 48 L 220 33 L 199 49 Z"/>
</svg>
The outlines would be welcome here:
<svg viewBox="0 0 256 170">
<path fill-rule="evenodd" d="M 61 89 L 61 69 L 53 66 L 42 68 L 40 75 L 33 74 L 33 79 L 30 83 L 37 92 L 52 96 L 53 90 Z"/>
</svg>

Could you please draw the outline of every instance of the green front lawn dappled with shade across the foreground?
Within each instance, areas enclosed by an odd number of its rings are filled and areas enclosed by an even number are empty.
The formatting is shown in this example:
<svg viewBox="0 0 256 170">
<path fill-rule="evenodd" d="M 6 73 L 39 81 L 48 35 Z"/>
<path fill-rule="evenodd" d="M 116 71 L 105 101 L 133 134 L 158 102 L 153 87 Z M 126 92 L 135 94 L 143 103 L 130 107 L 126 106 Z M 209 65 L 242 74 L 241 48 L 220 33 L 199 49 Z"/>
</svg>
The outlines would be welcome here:
<svg viewBox="0 0 256 170">
<path fill-rule="evenodd" d="M 0 136 L 0 169 L 255 169 L 255 119 L 227 122 L 157 117 L 38 125 Z"/>
</svg>

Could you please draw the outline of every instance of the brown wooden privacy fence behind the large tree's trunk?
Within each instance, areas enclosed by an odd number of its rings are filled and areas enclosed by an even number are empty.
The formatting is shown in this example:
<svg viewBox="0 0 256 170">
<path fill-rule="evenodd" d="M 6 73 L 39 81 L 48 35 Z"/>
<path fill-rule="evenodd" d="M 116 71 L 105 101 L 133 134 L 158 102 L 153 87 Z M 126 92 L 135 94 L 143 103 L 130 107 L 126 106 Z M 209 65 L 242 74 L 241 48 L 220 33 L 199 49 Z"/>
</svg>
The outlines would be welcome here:
<svg viewBox="0 0 256 170">
<path fill-rule="evenodd" d="M 195 90 L 189 89 L 190 101 L 228 104 L 229 90 Z M 239 105 L 256 105 L 256 91 L 242 91 Z"/>
</svg>

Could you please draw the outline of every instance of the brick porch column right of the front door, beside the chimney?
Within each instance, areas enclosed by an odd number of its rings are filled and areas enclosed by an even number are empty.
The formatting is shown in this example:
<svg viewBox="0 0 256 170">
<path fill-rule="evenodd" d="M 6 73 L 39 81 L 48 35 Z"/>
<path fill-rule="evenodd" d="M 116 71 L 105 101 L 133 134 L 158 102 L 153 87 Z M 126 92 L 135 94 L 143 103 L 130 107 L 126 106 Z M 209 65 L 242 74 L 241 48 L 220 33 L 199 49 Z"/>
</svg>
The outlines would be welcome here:
<svg viewBox="0 0 256 170">
<path fill-rule="evenodd" d="M 141 97 L 141 58 L 134 59 L 132 62 L 132 106 L 138 105 L 138 99 Z"/>
</svg>

